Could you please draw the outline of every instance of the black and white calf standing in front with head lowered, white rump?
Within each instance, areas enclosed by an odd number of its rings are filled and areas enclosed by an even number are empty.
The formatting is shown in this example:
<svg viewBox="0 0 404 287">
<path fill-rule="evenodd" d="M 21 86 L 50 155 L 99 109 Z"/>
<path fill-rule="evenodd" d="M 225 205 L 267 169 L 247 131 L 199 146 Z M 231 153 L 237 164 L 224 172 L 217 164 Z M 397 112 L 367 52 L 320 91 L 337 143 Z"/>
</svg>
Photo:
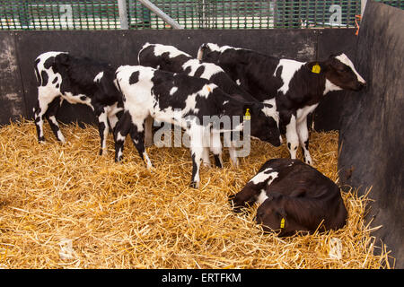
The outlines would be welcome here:
<svg viewBox="0 0 404 287">
<path fill-rule="evenodd" d="M 206 146 L 220 156 L 222 146 L 219 143 L 207 143 L 206 135 L 218 134 L 223 130 L 211 124 L 204 126 L 204 117 L 222 118 L 239 116 L 235 130 L 242 130 L 243 116 L 250 109 L 250 134 L 259 139 L 279 145 L 277 122 L 265 112 L 268 107 L 259 101 L 247 102 L 235 99 L 224 93 L 214 83 L 206 79 L 191 77 L 186 74 L 172 74 L 141 65 L 120 66 L 116 74 L 116 84 L 122 91 L 125 113 L 116 126 L 116 161 L 119 161 L 127 134 L 134 139 L 136 149 L 146 161 L 147 167 L 152 163 L 145 152 L 145 119 L 153 117 L 161 122 L 181 126 L 190 138 L 192 156 L 191 187 L 199 187 L 200 163 L 206 158 Z M 210 137 L 208 141 L 217 140 Z"/>
</svg>

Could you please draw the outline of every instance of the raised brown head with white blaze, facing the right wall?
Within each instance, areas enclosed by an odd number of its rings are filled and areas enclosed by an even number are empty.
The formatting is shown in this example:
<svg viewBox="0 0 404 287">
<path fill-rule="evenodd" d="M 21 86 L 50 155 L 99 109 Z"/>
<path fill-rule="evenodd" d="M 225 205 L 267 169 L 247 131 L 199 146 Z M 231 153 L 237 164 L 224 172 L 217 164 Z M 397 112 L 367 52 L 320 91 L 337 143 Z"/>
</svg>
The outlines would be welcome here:
<svg viewBox="0 0 404 287">
<path fill-rule="evenodd" d="M 342 90 L 359 91 L 366 85 L 364 78 L 356 72 L 354 64 L 344 53 L 332 55 L 322 64 L 327 80 Z"/>
</svg>

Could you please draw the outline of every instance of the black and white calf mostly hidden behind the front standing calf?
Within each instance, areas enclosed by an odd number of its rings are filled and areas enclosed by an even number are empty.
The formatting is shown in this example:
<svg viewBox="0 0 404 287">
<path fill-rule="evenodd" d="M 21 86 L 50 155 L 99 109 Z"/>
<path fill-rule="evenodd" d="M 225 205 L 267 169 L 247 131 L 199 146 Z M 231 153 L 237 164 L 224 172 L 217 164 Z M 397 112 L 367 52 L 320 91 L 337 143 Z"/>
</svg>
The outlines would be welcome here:
<svg viewBox="0 0 404 287">
<path fill-rule="evenodd" d="M 173 46 L 145 43 L 143 48 L 139 51 L 137 59 L 139 65 L 151 66 L 154 69 L 171 73 L 182 73 L 203 78 L 209 80 L 210 83 L 215 83 L 222 91 L 229 95 L 234 95 L 246 101 L 256 101 L 248 92 L 242 90 L 220 66 L 213 63 L 201 62 Z M 278 123 L 279 118 L 275 107 L 275 99 L 272 100 L 272 102 L 268 101 L 267 107 L 272 109 L 268 109 L 268 117 L 273 117 Z M 150 138 L 151 135 L 152 133 L 146 133 L 145 141 L 148 143 L 152 142 Z M 280 137 L 280 140 L 282 140 L 282 137 Z M 229 147 L 229 153 L 233 165 L 238 166 L 237 157 L 233 156 L 235 153 L 232 146 Z M 218 167 L 222 167 L 222 164 L 219 163 Z"/>
</svg>

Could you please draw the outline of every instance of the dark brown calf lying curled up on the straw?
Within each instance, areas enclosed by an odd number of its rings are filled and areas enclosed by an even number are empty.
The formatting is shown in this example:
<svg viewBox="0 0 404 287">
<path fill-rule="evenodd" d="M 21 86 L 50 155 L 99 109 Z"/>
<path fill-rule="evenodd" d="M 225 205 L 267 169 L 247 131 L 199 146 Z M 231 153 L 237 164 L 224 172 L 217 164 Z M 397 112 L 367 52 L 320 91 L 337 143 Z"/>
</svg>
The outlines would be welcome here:
<svg viewBox="0 0 404 287">
<path fill-rule="evenodd" d="M 342 228 L 347 209 L 338 186 L 320 171 L 299 160 L 273 159 L 231 196 L 234 209 L 258 203 L 256 221 L 279 236 L 296 231 L 313 232 L 322 222 L 325 230 Z"/>
</svg>

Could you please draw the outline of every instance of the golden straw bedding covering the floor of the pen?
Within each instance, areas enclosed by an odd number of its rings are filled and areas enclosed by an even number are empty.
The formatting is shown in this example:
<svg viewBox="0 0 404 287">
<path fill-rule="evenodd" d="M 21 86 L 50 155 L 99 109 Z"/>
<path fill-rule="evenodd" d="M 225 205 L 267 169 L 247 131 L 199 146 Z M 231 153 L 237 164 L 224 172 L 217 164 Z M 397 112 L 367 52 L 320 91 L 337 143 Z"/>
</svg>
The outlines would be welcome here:
<svg viewBox="0 0 404 287">
<path fill-rule="evenodd" d="M 263 234 L 252 213 L 235 214 L 228 196 L 271 158 L 287 157 L 252 140 L 239 169 L 224 151 L 224 169 L 201 171 L 188 187 L 187 148 L 148 149 L 146 170 L 127 141 L 122 163 L 99 156 L 98 130 L 62 126 L 67 143 L 37 142 L 33 122 L 0 128 L 0 267 L 3 268 L 380 268 L 364 223 L 370 199 L 342 193 L 349 213 L 342 230 L 279 239 Z M 312 133 L 314 166 L 337 180 L 338 133 Z M 214 162 L 214 161 L 213 161 Z M 256 208 L 256 207 L 255 207 Z M 336 246 L 339 248 L 336 248 Z"/>
</svg>

